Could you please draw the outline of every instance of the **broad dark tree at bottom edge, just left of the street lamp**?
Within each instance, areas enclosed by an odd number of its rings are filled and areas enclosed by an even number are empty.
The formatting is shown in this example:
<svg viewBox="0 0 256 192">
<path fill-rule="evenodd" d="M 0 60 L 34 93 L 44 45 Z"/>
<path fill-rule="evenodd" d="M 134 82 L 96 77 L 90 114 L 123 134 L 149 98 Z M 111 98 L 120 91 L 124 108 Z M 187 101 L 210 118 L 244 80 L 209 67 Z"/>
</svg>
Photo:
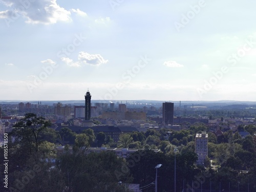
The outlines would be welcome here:
<svg viewBox="0 0 256 192">
<path fill-rule="evenodd" d="M 116 175 L 125 164 L 124 159 L 118 158 L 114 152 L 90 153 L 88 155 L 64 154 L 57 161 L 58 170 L 64 175 L 67 192 L 130 192 Z M 123 176 L 128 179 L 129 173 Z"/>
</svg>

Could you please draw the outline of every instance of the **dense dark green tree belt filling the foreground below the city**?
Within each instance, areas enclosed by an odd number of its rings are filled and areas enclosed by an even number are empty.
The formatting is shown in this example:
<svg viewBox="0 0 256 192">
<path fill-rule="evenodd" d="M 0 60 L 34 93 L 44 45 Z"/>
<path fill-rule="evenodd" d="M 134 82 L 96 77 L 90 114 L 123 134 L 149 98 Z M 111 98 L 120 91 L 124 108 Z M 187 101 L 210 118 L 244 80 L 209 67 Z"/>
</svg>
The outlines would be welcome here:
<svg viewBox="0 0 256 192">
<path fill-rule="evenodd" d="M 190 125 L 187 130 L 161 129 L 123 133 L 118 142 L 103 132 L 93 130 L 76 134 L 62 128 L 50 128 L 49 121 L 35 114 L 26 114 L 9 133 L 8 178 L 10 191 L 129 191 L 125 183 L 140 184 L 142 191 L 155 191 L 158 168 L 158 191 L 174 191 L 175 159 L 176 189 L 202 188 L 256 191 L 256 138 L 242 138 L 228 131 L 216 136 L 203 123 Z M 255 133 L 256 126 L 240 129 Z M 208 132 L 208 158 L 204 166 L 196 165 L 195 135 Z M 15 139 L 14 139 L 15 138 Z M 73 146 L 73 153 L 57 155 L 54 146 Z M 81 153 L 88 146 L 114 146 L 141 149 L 128 158 L 118 158 L 114 152 Z M 177 153 L 174 152 L 177 148 Z M 160 152 L 152 151 L 158 149 Z M 4 154 L 4 148 L 0 151 Z M 1 157 L 3 162 L 3 156 Z M 1 170 L 4 165 L 0 165 Z M 3 178 L 3 172 L 0 173 Z M 3 188 L 3 182 L 0 183 Z M 4 191 L 1 190 L 1 191 Z"/>
</svg>

